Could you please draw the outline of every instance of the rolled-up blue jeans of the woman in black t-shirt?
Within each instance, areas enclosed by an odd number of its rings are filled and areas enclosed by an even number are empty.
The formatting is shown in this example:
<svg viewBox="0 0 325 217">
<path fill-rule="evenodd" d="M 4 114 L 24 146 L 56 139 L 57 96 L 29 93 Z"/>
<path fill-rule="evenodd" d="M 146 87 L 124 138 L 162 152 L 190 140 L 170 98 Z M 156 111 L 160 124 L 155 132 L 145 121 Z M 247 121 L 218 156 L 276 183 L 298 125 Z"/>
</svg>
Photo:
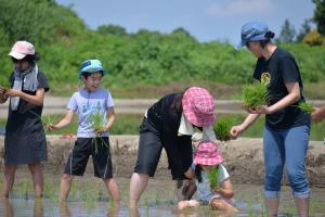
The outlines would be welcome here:
<svg viewBox="0 0 325 217">
<path fill-rule="evenodd" d="M 284 167 L 287 170 L 292 194 L 310 196 L 304 163 L 309 143 L 310 126 L 273 130 L 264 128 L 264 194 L 266 199 L 278 197 Z"/>
</svg>

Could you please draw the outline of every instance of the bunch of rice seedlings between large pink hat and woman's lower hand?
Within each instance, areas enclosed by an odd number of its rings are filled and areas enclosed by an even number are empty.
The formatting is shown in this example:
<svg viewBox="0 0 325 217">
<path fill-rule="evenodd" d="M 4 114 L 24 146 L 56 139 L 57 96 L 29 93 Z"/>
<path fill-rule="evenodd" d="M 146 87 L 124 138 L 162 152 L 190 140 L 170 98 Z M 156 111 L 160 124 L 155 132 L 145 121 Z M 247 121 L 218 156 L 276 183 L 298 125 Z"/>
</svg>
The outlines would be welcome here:
<svg viewBox="0 0 325 217">
<path fill-rule="evenodd" d="M 220 141 L 229 141 L 231 139 L 231 127 L 234 126 L 235 119 L 232 117 L 221 117 L 213 125 L 217 139 Z"/>
</svg>

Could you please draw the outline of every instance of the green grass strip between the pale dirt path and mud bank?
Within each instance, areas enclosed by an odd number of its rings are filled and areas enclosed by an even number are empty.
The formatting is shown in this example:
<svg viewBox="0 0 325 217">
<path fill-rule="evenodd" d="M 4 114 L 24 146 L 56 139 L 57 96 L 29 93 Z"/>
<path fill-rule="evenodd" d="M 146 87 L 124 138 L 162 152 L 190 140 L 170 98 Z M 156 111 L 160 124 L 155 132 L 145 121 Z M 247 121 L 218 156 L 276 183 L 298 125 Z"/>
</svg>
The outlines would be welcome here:
<svg viewBox="0 0 325 217">
<path fill-rule="evenodd" d="M 225 116 L 225 115 L 220 115 Z M 220 117 L 219 116 L 219 117 Z M 229 115 L 226 115 L 229 116 Z M 235 123 L 240 124 L 245 115 L 231 115 Z M 50 117 L 52 123 L 56 123 L 62 118 L 62 115 L 51 115 L 51 116 L 43 116 L 43 119 L 48 122 L 48 117 Z M 120 114 L 117 116 L 116 123 L 110 130 L 112 135 L 139 135 L 139 126 L 141 125 L 143 115 L 139 114 Z M 5 125 L 5 119 L 0 119 L 0 126 Z M 261 138 L 263 136 L 263 126 L 264 126 L 264 118 L 260 117 L 244 135 L 243 137 L 248 138 Z M 54 132 L 47 131 L 48 135 L 70 135 L 76 133 L 77 131 L 77 118 L 74 119 L 74 123 L 65 128 Z M 325 122 L 323 123 L 312 123 L 311 128 L 311 140 L 323 141 L 325 137 Z"/>
</svg>

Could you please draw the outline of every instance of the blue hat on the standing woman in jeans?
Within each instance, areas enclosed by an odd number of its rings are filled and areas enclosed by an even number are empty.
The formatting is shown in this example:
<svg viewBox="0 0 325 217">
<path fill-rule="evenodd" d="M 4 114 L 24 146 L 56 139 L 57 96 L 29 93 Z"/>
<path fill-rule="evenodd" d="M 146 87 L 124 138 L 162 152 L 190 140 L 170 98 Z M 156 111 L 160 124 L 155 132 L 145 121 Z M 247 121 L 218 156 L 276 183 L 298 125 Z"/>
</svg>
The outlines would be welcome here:
<svg viewBox="0 0 325 217">
<path fill-rule="evenodd" d="M 249 41 L 265 40 L 265 34 L 269 31 L 266 24 L 262 22 L 249 22 L 242 27 L 242 41 L 238 48 L 246 46 Z"/>
</svg>

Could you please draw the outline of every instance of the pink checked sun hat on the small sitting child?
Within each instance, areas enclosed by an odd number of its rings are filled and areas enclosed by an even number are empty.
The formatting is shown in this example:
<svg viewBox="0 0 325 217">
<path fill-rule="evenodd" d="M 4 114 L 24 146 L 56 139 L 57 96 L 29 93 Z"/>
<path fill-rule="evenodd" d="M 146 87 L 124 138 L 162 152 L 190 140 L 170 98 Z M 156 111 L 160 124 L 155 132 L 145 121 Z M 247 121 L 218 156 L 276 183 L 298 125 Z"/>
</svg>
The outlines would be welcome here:
<svg viewBox="0 0 325 217">
<path fill-rule="evenodd" d="M 223 162 L 218 145 L 211 141 L 199 142 L 194 153 L 194 164 L 196 165 L 218 165 Z"/>
</svg>

